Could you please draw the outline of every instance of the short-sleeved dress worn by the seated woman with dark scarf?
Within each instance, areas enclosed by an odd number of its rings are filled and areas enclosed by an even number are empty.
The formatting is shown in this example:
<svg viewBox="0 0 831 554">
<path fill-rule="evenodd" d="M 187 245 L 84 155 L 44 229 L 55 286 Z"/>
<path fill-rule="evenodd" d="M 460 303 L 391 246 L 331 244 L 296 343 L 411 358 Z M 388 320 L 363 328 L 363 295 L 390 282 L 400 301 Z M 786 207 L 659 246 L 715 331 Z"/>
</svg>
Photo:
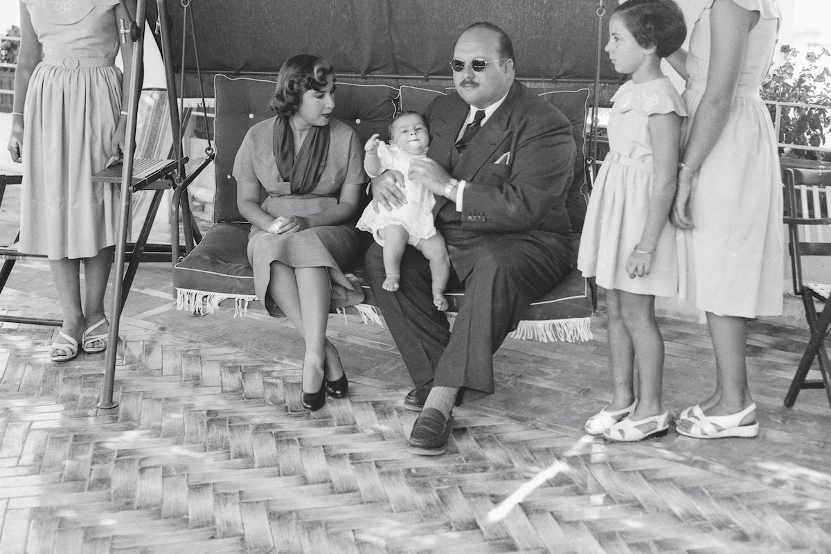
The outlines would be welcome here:
<svg viewBox="0 0 831 554">
<path fill-rule="evenodd" d="M 363 149 L 352 127 L 331 120 L 331 138 L 326 165 L 312 194 L 291 194 L 291 184 L 280 177 L 274 159 L 271 118 L 254 125 L 245 135 L 234 161 L 237 183 L 254 183 L 268 194 L 263 209 L 277 218 L 281 215 L 305 216 L 330 208 L 338 201 L 344 184 L 365 184 L 361 167 Z M 283 262 L 291 267 L 327 267 L 332 283 L 332 308 L 352 306 L 363 300 L 361 283 L 347 278 L 345 270 L 360 261 L 360 241 L 353 225 L 312 227 L 284 235 L 267 233 L 251 226 L 248 235 L 248 261 L 254 274 L 257 297 L 268 311 L 277 313 L 268 302 L 271 263 Z"/>
</svg>

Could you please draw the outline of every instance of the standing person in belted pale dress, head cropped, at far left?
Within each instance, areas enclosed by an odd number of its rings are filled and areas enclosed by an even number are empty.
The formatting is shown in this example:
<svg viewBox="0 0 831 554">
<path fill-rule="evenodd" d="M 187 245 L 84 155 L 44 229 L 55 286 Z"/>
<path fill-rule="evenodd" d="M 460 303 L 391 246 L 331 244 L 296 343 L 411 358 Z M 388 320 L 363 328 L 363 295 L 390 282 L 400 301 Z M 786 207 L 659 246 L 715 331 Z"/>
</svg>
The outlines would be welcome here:
<svg viewBox="0 0 831 554">
<path fill-rule="evenodd" d="M 22 0 L 8 150 L 22 162 L 22 253 L 49 259 L 63 326 L 49 356 L 106 350 L 104 293 L 116 244 L 118 194 L 93 183 L 124 148 L 132 42 L 118 21 L 135 0 Z M 81 261 L 84 301 L 81 302 Z"/>
</svg>

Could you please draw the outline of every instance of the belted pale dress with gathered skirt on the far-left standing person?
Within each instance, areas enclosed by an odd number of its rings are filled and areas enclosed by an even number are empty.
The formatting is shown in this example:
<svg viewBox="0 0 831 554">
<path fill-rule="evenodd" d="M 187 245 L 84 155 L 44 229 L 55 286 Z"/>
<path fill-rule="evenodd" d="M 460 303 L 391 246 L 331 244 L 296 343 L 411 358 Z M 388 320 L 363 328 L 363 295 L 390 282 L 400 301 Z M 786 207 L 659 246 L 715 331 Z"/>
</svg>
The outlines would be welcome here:
<svg viewBox="0 0 831 554">
<path fill-rule="evenodd" d="M 92 183 L 121 109 L 118 0 L 23 0 L 43 47 L 23 107 L 20 252 L 93 257 L 116 243 L 118 193 Z"/>
</svg>

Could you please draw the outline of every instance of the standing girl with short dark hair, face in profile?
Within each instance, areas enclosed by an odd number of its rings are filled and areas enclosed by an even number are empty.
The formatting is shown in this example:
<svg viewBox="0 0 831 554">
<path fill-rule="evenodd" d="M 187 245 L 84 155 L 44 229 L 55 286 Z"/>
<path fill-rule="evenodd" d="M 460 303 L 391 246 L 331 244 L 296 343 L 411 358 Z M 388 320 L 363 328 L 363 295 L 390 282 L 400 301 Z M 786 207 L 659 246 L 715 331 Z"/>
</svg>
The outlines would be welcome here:
<svg viewBox="0 0 831 554">
<path fill-rule="evenodd" d="M 669 213 L 686 108 L 661 72 L 661 58 L 681 47 L 685 37 L 683 14 L 672 0 L 628 0 L 609 21 L 606 51 L 615 69 L 632 79 L 612 97 L 610 152 L 588 204 L 578 267 L 607 290 L 614 397 L 585 429 L 610 440 L 641 440 L 668 429 L 655 297 L 678 292 Z"/>
</svg>

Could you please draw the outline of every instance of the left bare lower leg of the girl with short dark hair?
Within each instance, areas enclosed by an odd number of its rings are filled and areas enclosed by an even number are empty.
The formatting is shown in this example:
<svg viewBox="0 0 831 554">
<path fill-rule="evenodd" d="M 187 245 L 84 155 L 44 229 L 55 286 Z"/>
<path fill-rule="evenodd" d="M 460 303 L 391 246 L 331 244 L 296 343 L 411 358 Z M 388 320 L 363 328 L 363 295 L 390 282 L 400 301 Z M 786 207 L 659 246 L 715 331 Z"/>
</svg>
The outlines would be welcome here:
<svg viewBox="0 0 831 554">
<path fill-rule="evenodd" d="M 608 411 L 614 412 L 627 408 L 635 401 L 634 391 L 634 359 L 635 350 L 632 346 L 632 336 L 623 322 L 621 308 L 621 293 L 615 289 L 606 291 L 606 311 L 609 316 L 607 333 L 609 336 L 609 363 L 612 365 L 612 381 L 614 396 L 607 406 Z"/>
</svg>

